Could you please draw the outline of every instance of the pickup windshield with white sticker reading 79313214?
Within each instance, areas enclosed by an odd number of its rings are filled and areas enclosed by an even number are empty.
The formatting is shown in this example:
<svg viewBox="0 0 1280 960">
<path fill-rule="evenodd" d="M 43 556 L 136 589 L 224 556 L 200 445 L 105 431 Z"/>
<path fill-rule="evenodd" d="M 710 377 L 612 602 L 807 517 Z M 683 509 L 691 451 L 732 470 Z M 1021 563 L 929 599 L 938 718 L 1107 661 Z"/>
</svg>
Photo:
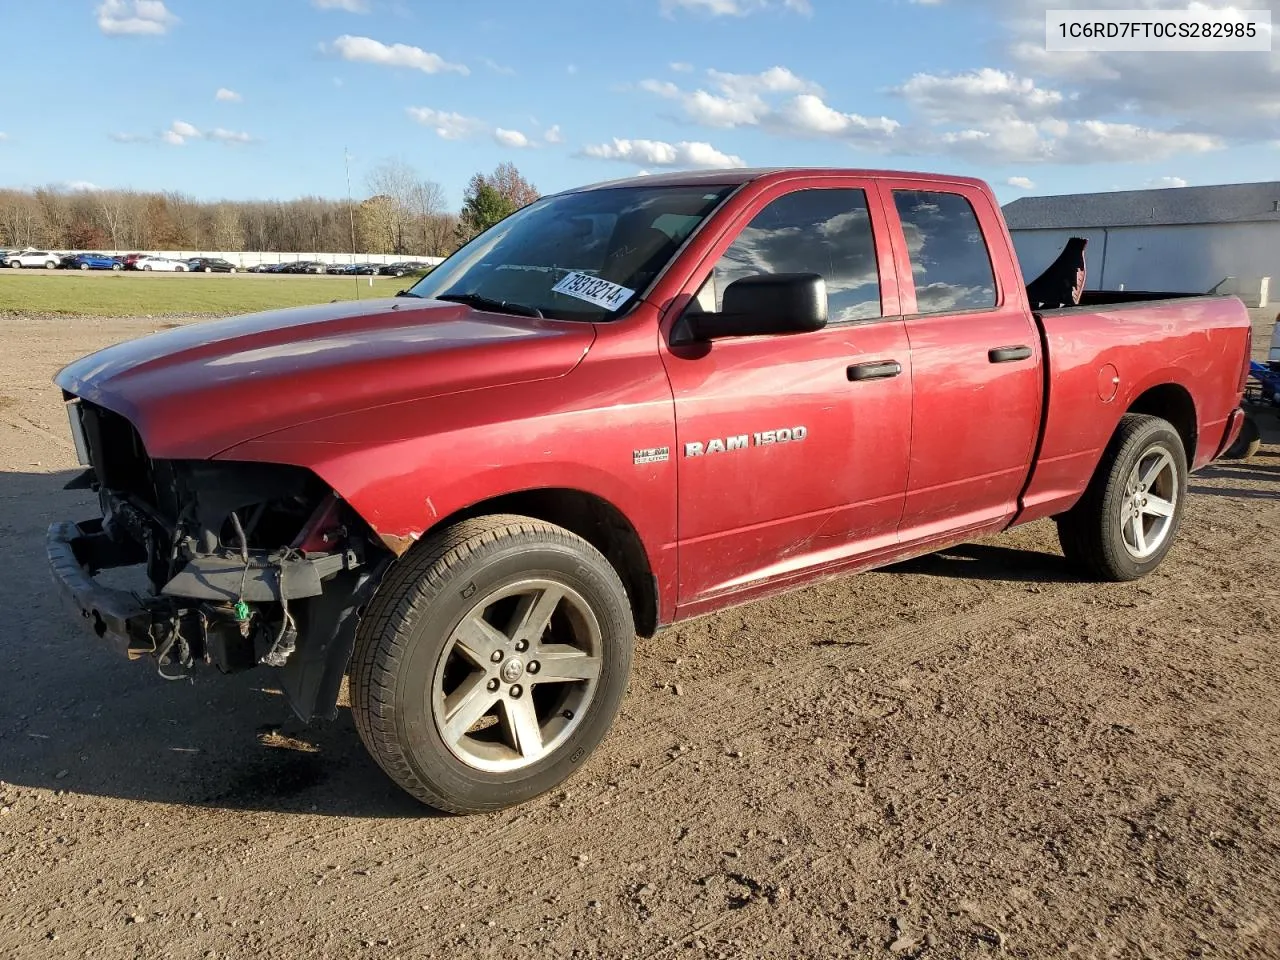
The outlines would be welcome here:
<svg viewBox="0 0 1280 960">
<path fill-rule="evenodd" d="M 408 294 L 559 320 L 609 320 L 653 283 L 733 187 L 617 187 L 544 197 L 481 233 Z"/>
</svg>

